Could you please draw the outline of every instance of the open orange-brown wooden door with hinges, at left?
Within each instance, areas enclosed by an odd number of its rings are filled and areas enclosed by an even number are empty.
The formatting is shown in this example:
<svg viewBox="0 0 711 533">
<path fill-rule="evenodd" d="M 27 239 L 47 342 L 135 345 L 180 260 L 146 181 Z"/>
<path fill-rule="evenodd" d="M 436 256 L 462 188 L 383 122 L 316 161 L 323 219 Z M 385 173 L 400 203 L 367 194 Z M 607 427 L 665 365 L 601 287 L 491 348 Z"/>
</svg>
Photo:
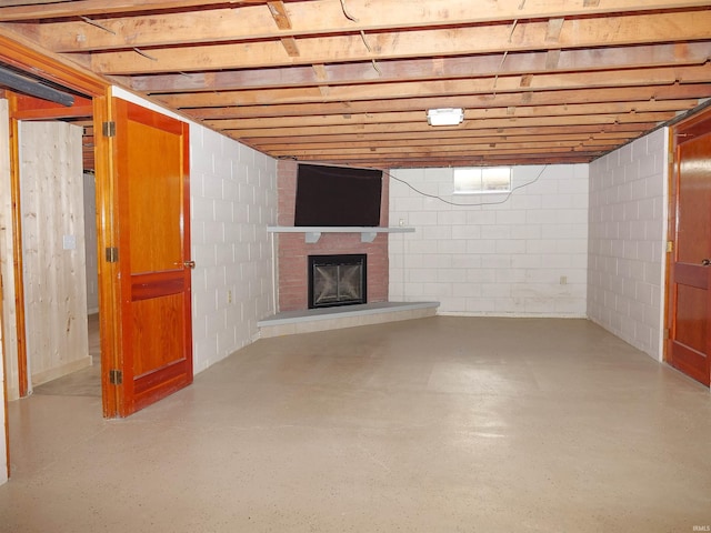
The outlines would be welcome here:
<svg viewBox="0 0 711 533">
<path fill-rule="evenodd" d="M 189 127 L 113 99 L 120 299 L 117 414 L 192 382 Z M 116 258 L 114 258 L 116 259 Z"/>
</svg>

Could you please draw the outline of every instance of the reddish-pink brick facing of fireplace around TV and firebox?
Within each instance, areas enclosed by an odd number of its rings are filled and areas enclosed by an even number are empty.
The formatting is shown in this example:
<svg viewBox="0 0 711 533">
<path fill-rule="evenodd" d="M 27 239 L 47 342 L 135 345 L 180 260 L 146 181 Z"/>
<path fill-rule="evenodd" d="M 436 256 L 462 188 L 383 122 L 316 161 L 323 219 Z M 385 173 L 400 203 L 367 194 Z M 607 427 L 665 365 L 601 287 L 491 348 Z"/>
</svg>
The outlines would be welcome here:
<svg viewBox="0 0 711 533">
<path fill-rule="evenodd" d="M 292 227 L 297 197 L 296 161 L 278 163 L 279 225 Z M 388 225 L 388 180 L 382 180 L 380 225 Z M 368 302 L 388 301 L 388 234 L 373 242 L 361 242 L 360 233 L 322 233 L 307 243 L 303 233 L 276 235 L 278 257 L 279 311 L 300 311 L 309 306 L 309 255 L 365 254 L 368 258 Z"/>
</svg>

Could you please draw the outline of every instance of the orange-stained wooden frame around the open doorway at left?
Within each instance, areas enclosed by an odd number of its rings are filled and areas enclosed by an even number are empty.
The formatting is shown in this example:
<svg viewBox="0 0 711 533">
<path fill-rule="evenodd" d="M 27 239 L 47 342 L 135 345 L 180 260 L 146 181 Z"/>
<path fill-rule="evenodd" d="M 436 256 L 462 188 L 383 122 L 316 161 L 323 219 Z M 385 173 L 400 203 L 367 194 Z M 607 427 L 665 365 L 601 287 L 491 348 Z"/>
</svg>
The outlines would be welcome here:
<svg viewBox="0 0 711 533">
<path fill-rule="evenodd" d="M 44 79 L 60 86 L 73 89 L 86 94 L 92 100 L 93 127 L 94 127 L 94 158 L 97 181 L 97 250 L 107 250 L 114 247 L 117 239 L 114 217 L 118 209 L 114 202 L 113 164 L 111 161 L 110 138 L 101 134 L 102 124 L 111 120 L 109 107 L 111 84 L 99 76 L 83 70 L 51 52 L 38 52 L 33 44 L 23 42 L 19 36 L 10 36 L 0 30 L 0 61 L 11 64 L 20 70 L 29 70 Z M 13 270 L 16 283 L 16 316 L 13 324 L 18 339 L 18 378 L 20 395 L 28 391 L 27 373 L 27 344 L 26 344 L 26 316 L 24 294 L 22 276 L 22 232 L 20 228 L 20 174 L 19 174 L 19 145 L 17 138 L 18 117 L 12 114 L 10 105 L 10 179 L 12 201 L 12 232 L 13 232 Z M 103 259 L 103 260 L 102 260 Z M 117 266 L 99 253 L 99 312 L 101 331 L 101 364 L 102 368 L 112 368 L 119 353 L 120 338 L 119 319 L 117 313 L 118 286 L 113 282 Z M 3 352 L 7 358 L 7 353 Z M 108 386 L 108 372 L 102 372 L 102 405 L 103 416 L 117 415 L 116 394 Z M 106 375 L 104 375 L 106 374 Z M 6 376 L 7 380 L 7 376 Z M 6 420 L 6 432 L 7 432 Z M 9 464 L 9 463 L 8 463 Z"/>
</svg>

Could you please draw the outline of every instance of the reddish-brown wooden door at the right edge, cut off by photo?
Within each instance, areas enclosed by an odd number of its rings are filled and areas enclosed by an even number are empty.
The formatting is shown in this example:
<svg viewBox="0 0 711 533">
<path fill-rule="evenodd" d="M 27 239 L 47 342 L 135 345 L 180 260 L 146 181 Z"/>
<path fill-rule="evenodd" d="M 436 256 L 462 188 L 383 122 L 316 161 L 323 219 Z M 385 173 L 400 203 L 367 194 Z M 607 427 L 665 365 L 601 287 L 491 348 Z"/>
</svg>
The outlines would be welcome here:
<svg viewBox="0 0 711 533">
<path fill-rule="evenodd" d="M 707 113 L 708 114 L 708 113 Z M 711 380 L 711 115 L 674 131 L 668 362 Z"/>
</svg>

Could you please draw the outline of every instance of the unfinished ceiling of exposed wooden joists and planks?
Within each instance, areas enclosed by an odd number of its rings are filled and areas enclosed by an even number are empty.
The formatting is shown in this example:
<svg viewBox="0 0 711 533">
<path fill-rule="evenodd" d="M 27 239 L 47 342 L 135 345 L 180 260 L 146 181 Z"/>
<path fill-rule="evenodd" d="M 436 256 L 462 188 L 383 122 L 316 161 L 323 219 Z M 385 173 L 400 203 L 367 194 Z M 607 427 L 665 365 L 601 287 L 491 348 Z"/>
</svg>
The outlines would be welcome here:
<svg viewBox="0 0 711 533">
<path fill-rule="evenodd" d="M 4 0 L 0 29 L 274 158 L 588 162 L 711 97 L 711 2 Z M 432 127 L 427 110 L 462 108 Z"/>
</svg>

